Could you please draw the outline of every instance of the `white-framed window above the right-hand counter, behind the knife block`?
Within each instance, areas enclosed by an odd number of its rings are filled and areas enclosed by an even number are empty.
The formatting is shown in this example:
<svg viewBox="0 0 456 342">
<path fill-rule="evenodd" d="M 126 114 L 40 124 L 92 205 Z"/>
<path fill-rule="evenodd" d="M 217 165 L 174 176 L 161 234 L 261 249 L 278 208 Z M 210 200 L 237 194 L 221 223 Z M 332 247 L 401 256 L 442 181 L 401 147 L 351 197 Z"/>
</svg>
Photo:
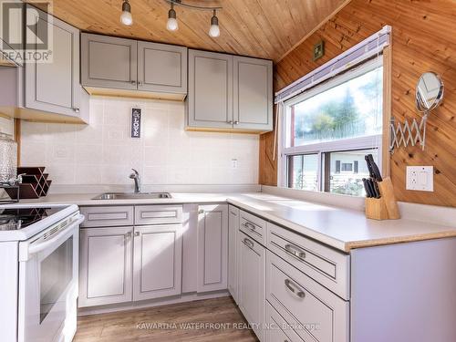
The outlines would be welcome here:
<svg viewBox="0 0 456 342">
<path fill-rule="evenodd" d="M 365 155 L 381 155 L 383 67 L 368 61 L 285 102 L 288 187 L 364 195 Z"/>
</svg>

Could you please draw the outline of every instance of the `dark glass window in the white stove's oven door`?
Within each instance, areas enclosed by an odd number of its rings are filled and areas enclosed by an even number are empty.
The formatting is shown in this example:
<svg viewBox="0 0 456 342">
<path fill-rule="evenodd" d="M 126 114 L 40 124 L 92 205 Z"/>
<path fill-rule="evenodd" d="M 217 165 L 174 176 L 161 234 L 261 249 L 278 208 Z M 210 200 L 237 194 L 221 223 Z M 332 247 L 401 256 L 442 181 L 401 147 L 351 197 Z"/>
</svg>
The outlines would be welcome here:
<svg viewBox="0 0 456 342">
<path fill-rule="evenodd" d="M 73 236 L 47 255 L 41 261 L 40 268 L 39 323 L 41 324 L 73 278 Z"/>
</svg>

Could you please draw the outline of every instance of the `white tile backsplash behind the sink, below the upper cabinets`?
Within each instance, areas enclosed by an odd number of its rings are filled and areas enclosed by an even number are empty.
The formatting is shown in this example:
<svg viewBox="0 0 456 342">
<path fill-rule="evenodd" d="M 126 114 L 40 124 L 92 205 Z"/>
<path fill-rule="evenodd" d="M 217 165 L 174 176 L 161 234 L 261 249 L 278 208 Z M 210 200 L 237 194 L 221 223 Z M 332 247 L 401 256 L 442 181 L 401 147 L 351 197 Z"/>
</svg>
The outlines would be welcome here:
<svg viewBox="0 0 456 342">
<path fill-rule="evenodd" d="M 130 109 L 142 110 L 130 138 Z M 23 166 L 47 166 L 53 184 L 256 184 L 259 137 L 184 130 L 183 102 L 90 98 L 90 124 L 22 122 Z M 232 160 L 238 161 L 236 169 Z"/>
</svg>

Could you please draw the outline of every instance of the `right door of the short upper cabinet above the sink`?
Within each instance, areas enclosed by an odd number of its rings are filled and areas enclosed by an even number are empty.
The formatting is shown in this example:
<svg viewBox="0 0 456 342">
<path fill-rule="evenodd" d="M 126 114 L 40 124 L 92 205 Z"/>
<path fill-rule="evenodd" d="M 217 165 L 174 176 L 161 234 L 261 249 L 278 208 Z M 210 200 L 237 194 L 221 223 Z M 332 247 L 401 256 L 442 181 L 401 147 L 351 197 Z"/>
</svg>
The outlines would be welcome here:
<svg viewBox="0 0 456 342">
<path fill-rule="evenodd" d="M 138 89 L 187 93 L 187 47 L 138 42 Z"/>
</svg>

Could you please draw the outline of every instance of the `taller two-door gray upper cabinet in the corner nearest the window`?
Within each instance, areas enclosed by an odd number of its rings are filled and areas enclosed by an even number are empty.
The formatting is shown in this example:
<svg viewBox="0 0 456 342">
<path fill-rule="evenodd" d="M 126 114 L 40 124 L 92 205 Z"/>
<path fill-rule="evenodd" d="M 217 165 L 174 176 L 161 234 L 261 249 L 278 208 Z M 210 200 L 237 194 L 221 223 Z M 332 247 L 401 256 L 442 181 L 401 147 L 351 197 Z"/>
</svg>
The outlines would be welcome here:
<svg viewBox="0 0 456 342">
<path fill-rule="evenodd" d="M 187 130 L 273 128 L 272 61 L 189 50 Z"/>
</svg>

